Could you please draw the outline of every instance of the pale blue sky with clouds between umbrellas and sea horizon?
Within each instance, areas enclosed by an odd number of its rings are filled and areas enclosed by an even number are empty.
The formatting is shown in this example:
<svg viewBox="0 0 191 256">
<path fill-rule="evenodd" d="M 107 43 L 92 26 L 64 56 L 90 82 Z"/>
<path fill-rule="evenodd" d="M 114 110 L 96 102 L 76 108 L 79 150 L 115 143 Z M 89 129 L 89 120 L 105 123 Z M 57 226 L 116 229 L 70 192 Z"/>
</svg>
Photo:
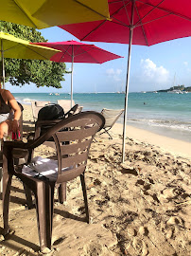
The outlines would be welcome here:
<svg viewBox="0 0 191 256">
<path fill-rule="evenodd" d="M 40 30 L 49 42 L 77 40 L 60 27 Z M 93 44 L 92 42 L 85 42 Z M 105 64 L 74 64 L 74 92 L 115 92 L 125 90 L 128 63 L 128 45 L 94 43 L 96 46 L 123 56 Z M 130 63 L 130 92 L 159 90 L 177 84 L 191 86 L 191 38 L 168 41 L 155 46 L 132 46 Z M 71 64 L 66 64 L 67 69 Z M 37 88 L 35 84 L 18 87 L 7 82 L 12 93 L 70 91 L 71 75 L 64 75 L 62 89 Z"/>
</svg>

